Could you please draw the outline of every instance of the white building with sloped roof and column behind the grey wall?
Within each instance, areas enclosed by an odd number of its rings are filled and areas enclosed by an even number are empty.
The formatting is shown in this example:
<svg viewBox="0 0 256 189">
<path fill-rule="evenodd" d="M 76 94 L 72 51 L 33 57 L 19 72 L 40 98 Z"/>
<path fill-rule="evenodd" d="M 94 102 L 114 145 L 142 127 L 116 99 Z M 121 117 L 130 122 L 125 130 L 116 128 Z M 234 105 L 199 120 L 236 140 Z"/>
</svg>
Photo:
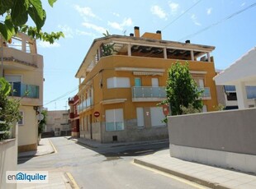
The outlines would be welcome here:
<svg viewBox="0 0 256 189">
<path fill-rule="evenodd" d="M 256 47 L 214 77 L 216 85 L 225 85 L 225 93 L 237 99 L 239 109 L 255 107 Z M 234 87 L 235 86 L 235 87 Z M 227 95 L 227 96 L 228 96 Z M 232 101 L 232 100 L 231 100 Z M 235 105 L 235 104 L 233 104 Z"/>
</svg>

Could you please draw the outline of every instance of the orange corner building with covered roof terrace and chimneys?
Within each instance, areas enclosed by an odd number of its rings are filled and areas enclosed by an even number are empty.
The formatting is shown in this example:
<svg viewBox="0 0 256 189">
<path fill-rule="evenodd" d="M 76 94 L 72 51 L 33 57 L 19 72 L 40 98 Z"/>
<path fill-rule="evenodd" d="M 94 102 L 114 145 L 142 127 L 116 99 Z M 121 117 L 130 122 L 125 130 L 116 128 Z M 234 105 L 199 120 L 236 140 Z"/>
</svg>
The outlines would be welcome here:
<svg viewBox="0 0 256 189">
<path fill-rule="evenodd" d="M 107 48 L 113 48 L 108 53 Z M 109 35 L 94 39 L 79 67 L 80 137 L 101 142 L 168 138 L 164 113 L 167 71 L 174 62 L 188 62 L 201 96 L 203 111 L 217 104 L 212 46 L 162 39 L 161 31 L 140 36 Z"/>
</svg>

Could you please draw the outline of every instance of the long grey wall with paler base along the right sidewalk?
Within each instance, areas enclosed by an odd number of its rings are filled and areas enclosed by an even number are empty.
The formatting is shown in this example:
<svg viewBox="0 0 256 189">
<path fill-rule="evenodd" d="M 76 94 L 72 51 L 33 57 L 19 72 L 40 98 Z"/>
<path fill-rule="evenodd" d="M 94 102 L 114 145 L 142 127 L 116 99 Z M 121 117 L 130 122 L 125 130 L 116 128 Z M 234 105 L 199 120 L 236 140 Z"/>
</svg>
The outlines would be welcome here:
<svg viewBox="0 0 256 189">
<path fill-rule="evenodd" d="M 168 118 L 173 157 L 256 173 L 256 108 Z"/>
</svg>

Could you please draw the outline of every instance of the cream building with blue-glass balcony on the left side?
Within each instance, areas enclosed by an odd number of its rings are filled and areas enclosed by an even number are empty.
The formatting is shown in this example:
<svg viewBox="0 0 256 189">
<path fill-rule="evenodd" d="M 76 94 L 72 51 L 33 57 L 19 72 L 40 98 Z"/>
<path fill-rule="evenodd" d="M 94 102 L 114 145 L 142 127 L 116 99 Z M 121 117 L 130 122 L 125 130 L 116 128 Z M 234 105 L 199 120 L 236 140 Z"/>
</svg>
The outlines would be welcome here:
<svg viewBox="0 0 256 189">
<path fill-rule="evenodd" d="M 2 40 L 2 39 L 1 39 Z M 19 33 L 10 43 L 2 41 L 1 76 L 12 85 L 14 99 L 20 99 L 22 119 L 18 122 L 18 150 L 37 149 L 38 118 L 43 105 L 43 57 L 36 51 L 36 40 Z"/>
</svg>

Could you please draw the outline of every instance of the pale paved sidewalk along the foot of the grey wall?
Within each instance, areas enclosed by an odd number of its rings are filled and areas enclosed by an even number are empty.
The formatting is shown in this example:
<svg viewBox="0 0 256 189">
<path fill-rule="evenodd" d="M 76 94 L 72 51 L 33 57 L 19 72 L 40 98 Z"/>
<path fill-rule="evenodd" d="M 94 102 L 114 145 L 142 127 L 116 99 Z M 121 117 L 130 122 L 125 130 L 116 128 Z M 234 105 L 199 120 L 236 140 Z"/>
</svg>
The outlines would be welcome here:
<svg viewBox="0 0 256 189">
<path fill-rule="evenodd" d="M 170 157 L 169 150 L 161 150 L 134 160 L 149 168 L 183 177 L 211 188 L 255 189 L 256 176 L 224 168 L 216 168 Z"/>
</svg>

